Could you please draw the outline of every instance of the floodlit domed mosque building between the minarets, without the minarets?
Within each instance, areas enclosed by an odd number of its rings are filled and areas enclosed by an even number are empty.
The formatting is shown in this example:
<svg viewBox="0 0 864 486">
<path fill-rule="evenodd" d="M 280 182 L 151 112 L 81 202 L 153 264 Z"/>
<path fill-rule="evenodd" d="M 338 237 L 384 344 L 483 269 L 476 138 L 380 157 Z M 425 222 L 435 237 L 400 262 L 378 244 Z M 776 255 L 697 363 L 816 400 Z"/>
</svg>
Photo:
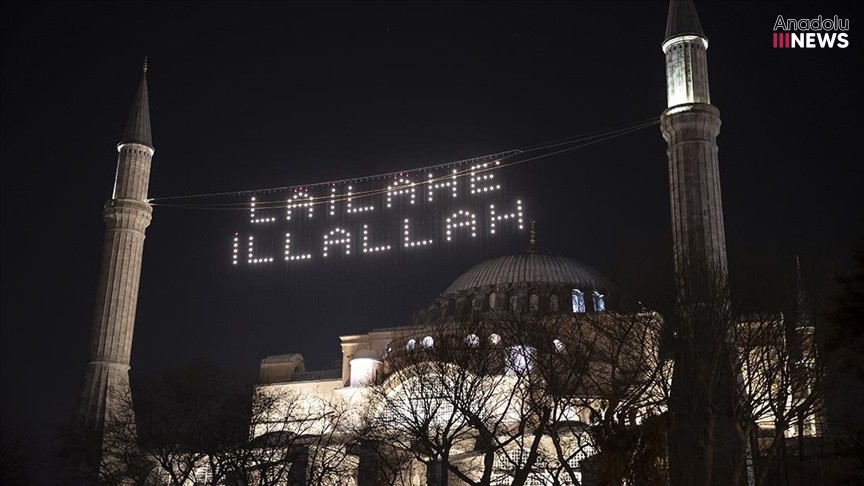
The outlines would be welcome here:
<svg viewBox="0 0 864 486">
<path fill-rule="evenodd" d="M 459 276 L 429 306 L 419 310 L 409 325 L 341 336 L 339 369 L 307 371 L 300 354 L 268 356 L 261 362 L 258 392 L 290 402 L 278 410 L 290 408 L 295 412 L 292 419 L 298 433 L 302 430 L 303 434 L 320 437 L 326 435 L 328 426 L 344 426 L 346 421 L 351 430 L 379 427 L 379 432 L 365 435 L 367 440 L 362 441 L 362 446 L 367 450 L 359 449 L 348 456 L 352 468 L 367 471 L 358 476 L 358 485 L 427 484 L 427 481 L 441 484 L 440 476 L 447 474 L 448 466 L 442 464 L 440 457 L 428 461 L 404 460 L 396 471 L 388 471 L 382 456 L 393 457 L 393 451 L 387 449 L 398 439 L 386 432 L 387 437 L 378 434 L 382 429 L 403 427 L 409 436 L 430 427 L 430 443 L 426 446 L 432 449 L 452 441 L 448 446 L 451 469 L 465 471 L 472 480 L 484 484 L 511 484 L 513 471 L 520 465 L 519 459 L 517 464 L 509 462 L 521 457 L 518 448 L 499 450 L 490 462 L 491 467 L 484 468 L 484 454 L 476 432 L 447 429 L 472 429 L 467 424 L 473 415 L 467 409 L 487 409 L 490 415 L 480 428 L 497 432 L 502 436 L 496 439 L 497 443 L 505 443 L 512 439 L 520 424 L 532 420 L 532 413 L 526 411 L 532 400 L 521 391 L 527 385 L 526 374 L 567 376 L 568 383 L 564 386 L 573 395 L 546 397 L 554 404 L 551 421 L 563 427 L 555 434 L 557 443 L 564 442 L 567 448 L 556 453 L 553 443 L 556 441 L 544 437 L 531 467 L 533 482 L 526 484 L 551 484 L 554 480 L 559 484 L 588 484 L 580 461 L 593 452 L 585 435 L 587 424 L 595 418 L 592 415 L 627 409 L 635 425 L 665 410 L 662 392 L 653 389 L 654 380 L 660 375 L 668 377 L 668 364 L 660 354 L 662 318 L 654 312 L 622 314 L 607 310 L 605 295 L 609 289 L 605 277 L 570 258 L 533 250 L 493 258 Z M 577 357 L 580 353 L 593 358 L 580 360 Z M 611 358 L 613 355 L 617 357 Z M 430 360 L 447 364 L 430 365 Z M 446 375 L 446 369 L 440 367 L 450 365 L 471 372 L 464 376 L 456 372 L 459 378 L 454 382 L 453 376 Z M 585 369 L 593 373 L 590 381 L 576 376 Z M 418 370 L 422 370 L 421 374 Z M 634 388 L 640 390 L 639 398 L 632 402 L 624 399 L 621 405 L 610 407 L 603 399 L 613 394 L 612 375 L 625 373 Z M 547 377 L 543 381 L 551 380 Z M 465 386 L 466 383 L 470 385 Z M 456 390 L 463 386 L 464 389 Z M 461 403 L 465 409 L 461 411 L 460 400 L 454 403 L 439 396 L 469 389 L 471 396 L 463 397 Z M 537 392 L 536 388 L 532 391 Z M 628 398 L 636 398 L 636 393 Z M 321 404 L 326 404 L 323 409 Z M 313 415 L 327 415 L 324 409 L 331 410 L 329 413 L 333 415 L 338 415 L 337 410 L 351 412 L 348 416 L 339 415 L 342 424 L 309 419 Z M 311 410 L 322 412 L 310 413 Z M 364 414 L 367 410 L 386 417 L 384 422 L 378 418 L 370 420 Z M 278 412 L 274 415 L 280 418 L 259 423 L 256 435 L 263 438 L 286 431 L 284 417 Z M 501 419 L 497 426 L 489 424 L 493 416 Z M 310 470 L 323 470 L 321 462 L 329 460 L 320 450 L 308 450 L 323 446 L 315 440 L 311 445 L 292 442 L 292 446 L 302 458 L 300 462 Z M 327 446 L 332 448 L 333 444 Z M 298 457 L 293 459 L 296 461 Z M 450 480 L 461 484 L 455 476 Z"/>
</svg>

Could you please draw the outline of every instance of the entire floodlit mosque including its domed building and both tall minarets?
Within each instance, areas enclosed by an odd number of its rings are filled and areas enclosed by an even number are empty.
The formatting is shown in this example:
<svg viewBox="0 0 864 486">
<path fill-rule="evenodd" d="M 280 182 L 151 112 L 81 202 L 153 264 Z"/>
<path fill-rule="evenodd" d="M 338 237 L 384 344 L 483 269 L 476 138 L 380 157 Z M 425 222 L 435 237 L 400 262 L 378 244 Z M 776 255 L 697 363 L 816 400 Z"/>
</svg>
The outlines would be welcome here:
<svg viewBox="0 0 864 486">
<path fill-rule="evenodd" d="M 720 116 L 710 100 L 707 47 L 692 2 L 672 0 L 662 43 L 668 106 L 661 129 L 668 143 L 675 271 L 683 282 L 679 299 L 688 305 L 704 297 L 710 280 L 704 276 L 723 284 L 727 274 L 716 143 Z M 129 389 L 144 232 L 152 211 L 147 186 L 155 151 L 146 66 L 121 140 L 114 194 L 105 207 L 102 277 L 78 414 L 79 427 L 97 433 L 119 406 L 112 396 Z M 671 376 L 671 361 L 660 353 L 663 317 L 609 308 L 612 292 L 612 284 L 590 266 L 540 253 L 533 244 L 526 253 L 481 262 L 408 325 L 341 336 L 340 368 L 307 370 L 301 354 L 264 358 L 257 393 L 306 417 L 324 408 L 314 419 L 294 422 L 280 422 L 272 412 L 273 420 L 256 424 L 252 435 L 261 441 L 275 432 L 303 437 L 292 443 L 289 484 L 311 483 L 316 464 L 340 448 L 337 462 L 349 472 L 334 484 L 510 484 L 519 475 L 524 484 L 591 484 L 594 446 L 585 439 L 587 424 L 649 423 L 666 410 Z M 439 352 L 447 358 L 429 359 Z M 573 374 L 576 369 L 582 374 Z M 527 386 L 535 371 L 544 376 L 542 400 L 536 387 Z M 557 388 L 551 385 L 556 380 Z M 462 398 L 484 410 L 483 417 L 454 402 L 453 389 L 466 387 L 470 397 Z M 634 388 L 640 398 L 627 402 Z M 542 420 L 523 413 L 532 400 L 551 404 Z M 336 415 L 355 431 L 376 420 L 383 427 L 368 440 L 324 444 L 320 438 L 332 436 Z M 390 421 L 382 423 L 381 417 Z M 297 430 L 285 429 L 292 423 Z M 554 425 L 544 431 L 541 424 Z M 797 433 L 818 433 L 813 421 L 807 424 Z M 400 450 L 411 457 L 385 467 L 382 448 L 393 452 L 400 437 L 418 430 L 433 439 L 405 439 Z M 526 461 L 532 466 L 520 467 Z M 393 475 L 385 478 L 388 470 Z"/>
</svg>

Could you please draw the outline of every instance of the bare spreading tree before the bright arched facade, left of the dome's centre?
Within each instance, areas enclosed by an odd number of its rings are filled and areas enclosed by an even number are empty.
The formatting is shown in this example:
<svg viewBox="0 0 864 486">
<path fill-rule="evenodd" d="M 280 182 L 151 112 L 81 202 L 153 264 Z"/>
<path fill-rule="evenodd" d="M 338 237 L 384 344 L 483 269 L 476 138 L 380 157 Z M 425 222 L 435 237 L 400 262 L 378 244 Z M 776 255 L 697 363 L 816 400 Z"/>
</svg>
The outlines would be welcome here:
<svg viewBox="0 0 864 486">
<path fill-rule="evenodd" d="M 500 437 L 512 436 L 506 419 L 520 377 L 504 373 L 501 338 L 482 322 L 430 326 L 422 334 L 406 337 L 405 347 L 388 356 L 386 378 L 372 388 L 370 436 L 410 453 L 436 484 L 451 474 L 489 484 Z"/>
</svg>

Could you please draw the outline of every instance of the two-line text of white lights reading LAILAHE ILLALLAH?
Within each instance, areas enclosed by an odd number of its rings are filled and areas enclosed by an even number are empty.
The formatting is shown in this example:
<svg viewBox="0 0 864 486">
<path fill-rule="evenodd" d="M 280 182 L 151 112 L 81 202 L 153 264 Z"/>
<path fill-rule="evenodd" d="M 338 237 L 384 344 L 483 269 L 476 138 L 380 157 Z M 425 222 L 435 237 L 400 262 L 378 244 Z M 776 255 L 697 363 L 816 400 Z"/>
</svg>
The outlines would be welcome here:
<svg viewBox="0 0 864 486">
<path fill-rule="evenodd" d="M 369 258 L 524 230 L 523 201 L 503 190 L 498 172 L 500 162 L 490 160 L 250 196 L 231 262 Z"/>
</svg>

